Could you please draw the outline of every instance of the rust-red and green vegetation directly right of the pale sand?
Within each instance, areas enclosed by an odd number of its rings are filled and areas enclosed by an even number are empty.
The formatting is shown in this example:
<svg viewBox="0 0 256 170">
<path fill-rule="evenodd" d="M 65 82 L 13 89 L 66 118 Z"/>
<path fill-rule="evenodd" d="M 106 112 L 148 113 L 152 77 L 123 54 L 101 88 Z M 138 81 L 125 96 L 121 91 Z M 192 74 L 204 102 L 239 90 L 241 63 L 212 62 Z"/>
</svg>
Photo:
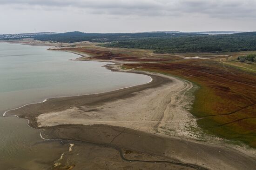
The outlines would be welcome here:
<svg viewBox="0 0 256 170">
<path fill-rule="evenodd" d="M 256 148 L 256 77 L 232 68 L 232 74 L 223 72 L 207 63 L 202 62 L 203 67 L 197 62 L 142 64 L 138 70 L 176 75 L 200 85 L 190 111 L 198 118 L 197 123 L 211 134 Z"/>
</svg>

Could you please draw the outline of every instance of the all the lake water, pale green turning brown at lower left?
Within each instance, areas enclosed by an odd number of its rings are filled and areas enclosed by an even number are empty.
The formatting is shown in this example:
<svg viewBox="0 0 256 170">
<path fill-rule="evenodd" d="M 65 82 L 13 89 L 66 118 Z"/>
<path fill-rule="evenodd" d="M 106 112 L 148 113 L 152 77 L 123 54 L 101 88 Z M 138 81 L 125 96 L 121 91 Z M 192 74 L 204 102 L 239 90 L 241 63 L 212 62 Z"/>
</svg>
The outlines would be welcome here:
<svg viewBox="0 0 256 170">
<path fill-rule="evenodd" d="M 111 72 L 106 63 L 70 61 L 78 56 L 44 46 L 0 43 L 0 115 L 45 98 L 106 92 L 147 83 L 145 75 Z M 46 142 L 27 120 L 0 117 L 0 169 L 46 169 L 67 144 Z"/>
</svg>

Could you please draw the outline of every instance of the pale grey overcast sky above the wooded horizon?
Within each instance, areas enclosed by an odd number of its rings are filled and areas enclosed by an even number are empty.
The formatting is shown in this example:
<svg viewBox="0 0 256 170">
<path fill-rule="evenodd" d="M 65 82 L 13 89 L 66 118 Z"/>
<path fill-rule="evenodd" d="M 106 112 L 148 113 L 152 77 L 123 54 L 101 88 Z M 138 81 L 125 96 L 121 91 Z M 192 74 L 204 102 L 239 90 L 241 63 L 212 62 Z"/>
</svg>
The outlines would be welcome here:
<svg viewBox="0 0 256 170">
<path fill-rule="evenodd" d="M 0 34 L 256 31 L 256 0 L 0 0 Z"/>
</svg>

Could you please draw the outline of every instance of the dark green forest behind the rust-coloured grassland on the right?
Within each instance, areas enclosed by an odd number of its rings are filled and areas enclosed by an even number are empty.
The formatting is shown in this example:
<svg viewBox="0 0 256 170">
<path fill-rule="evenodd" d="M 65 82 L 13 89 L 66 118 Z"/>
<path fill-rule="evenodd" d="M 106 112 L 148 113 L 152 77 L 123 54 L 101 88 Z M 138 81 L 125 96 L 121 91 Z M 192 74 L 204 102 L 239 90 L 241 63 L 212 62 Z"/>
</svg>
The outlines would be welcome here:
<svg viewBox="0 0 256 170">
<path fill-rule="evenodd" d="M 105 47 L 152 49 L 156 53 L 174 52 L 239 52 L 256 50 L 256 32 L 231 35 L 158 37 L 115 41 Z"/>
</svg>

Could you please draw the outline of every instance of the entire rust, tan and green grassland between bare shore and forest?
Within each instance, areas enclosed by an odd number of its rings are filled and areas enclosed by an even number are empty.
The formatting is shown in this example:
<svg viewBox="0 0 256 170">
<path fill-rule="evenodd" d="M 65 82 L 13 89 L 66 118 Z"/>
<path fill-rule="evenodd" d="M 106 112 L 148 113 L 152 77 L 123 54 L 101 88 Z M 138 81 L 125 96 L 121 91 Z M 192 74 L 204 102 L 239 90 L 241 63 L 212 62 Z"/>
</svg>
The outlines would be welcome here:
<svg viewBox="0 0 256 170">
<path fill-rule="evenodd" d="M 194 82 L 200 89 L 195 92 L 190 112 L 202 129 L 256 148 L 256 65 L 236 61 L 238 56 L 253 52 L 155 54 L 91 44 L 61 50 L 90 55 L 81 60 L 129 61 L 122 68 L 170 74 Z"/>
</svg>

